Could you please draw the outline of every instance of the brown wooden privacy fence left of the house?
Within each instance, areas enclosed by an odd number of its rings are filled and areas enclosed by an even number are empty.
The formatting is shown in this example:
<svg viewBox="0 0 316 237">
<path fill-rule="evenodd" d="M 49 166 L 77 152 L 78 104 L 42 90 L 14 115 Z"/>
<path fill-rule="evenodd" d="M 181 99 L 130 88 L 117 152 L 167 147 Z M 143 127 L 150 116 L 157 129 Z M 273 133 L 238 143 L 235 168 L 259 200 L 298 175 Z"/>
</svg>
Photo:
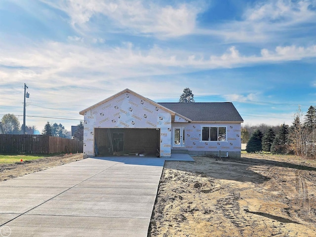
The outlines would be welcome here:
<svg viewBox="0 0 316 237">
<path fill-rule="evenodd" d="M 47 135 L 0 134 L 0 153 L 82 153 L 83 142 Z"/>
</svg>

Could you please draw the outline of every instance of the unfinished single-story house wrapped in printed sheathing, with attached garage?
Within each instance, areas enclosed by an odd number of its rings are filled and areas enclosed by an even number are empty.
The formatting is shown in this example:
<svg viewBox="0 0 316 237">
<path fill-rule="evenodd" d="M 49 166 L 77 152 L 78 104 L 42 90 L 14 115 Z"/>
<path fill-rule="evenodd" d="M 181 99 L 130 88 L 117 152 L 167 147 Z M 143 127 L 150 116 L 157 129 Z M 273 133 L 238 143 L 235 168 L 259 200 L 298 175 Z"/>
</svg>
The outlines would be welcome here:
<svg viewBox="0 0 316 237">
<path fill-rule="evenodd" d="M 84 116 L 83 153 L 145 152 L 160 157 L 190 155 L 240 157 L 243 119 L 231 102 L 156 103 L 129 89 L 92 105 Z"/>
</svg>

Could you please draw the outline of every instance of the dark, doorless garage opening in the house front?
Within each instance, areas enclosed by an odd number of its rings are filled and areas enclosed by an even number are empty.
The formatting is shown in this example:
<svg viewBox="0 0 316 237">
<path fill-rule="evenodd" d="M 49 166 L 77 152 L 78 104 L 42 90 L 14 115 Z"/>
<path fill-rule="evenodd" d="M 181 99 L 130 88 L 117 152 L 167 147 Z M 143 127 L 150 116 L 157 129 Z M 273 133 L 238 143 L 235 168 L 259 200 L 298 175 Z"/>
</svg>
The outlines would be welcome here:
<svg viewBox="0 0 316 237">
<path fill-rule="evenodd" d="M 97 156 L 115 154 L 156 155 L 159 151 L 160 129 L 156 128 L 95 128 Z"/>
</svg>

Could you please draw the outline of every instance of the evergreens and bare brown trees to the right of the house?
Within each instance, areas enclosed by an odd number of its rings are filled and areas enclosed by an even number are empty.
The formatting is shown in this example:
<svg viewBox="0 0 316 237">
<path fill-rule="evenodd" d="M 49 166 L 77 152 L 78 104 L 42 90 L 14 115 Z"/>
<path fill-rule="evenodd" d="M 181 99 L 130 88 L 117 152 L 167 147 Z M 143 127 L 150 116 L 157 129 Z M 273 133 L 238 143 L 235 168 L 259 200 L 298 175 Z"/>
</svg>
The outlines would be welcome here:
<svg viewBox="0 0 316 237">
<path fill-rule="evenodd" d="M 299 107 L 291 125 L 241 126 L 241 143 L 247 152 L 292 154 L 304 158 L 316 157 L 316 106 L 310 106 L 304 115 Z"/>
</svg>

